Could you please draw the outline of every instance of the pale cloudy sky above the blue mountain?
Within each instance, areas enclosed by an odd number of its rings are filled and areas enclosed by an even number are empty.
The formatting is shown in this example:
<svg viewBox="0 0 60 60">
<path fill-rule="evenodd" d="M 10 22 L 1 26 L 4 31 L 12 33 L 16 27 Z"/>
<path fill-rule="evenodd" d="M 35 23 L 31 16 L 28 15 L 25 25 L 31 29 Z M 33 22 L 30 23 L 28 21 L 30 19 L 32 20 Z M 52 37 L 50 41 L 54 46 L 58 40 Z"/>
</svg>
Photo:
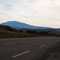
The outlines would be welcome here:
<svg viewBox="0 0 60 60">
<path fill-rule="evenodd" d="M 60 28 L 60 0 L 0 0 L 0 23 L 6 21 Z"/>
</svg>

